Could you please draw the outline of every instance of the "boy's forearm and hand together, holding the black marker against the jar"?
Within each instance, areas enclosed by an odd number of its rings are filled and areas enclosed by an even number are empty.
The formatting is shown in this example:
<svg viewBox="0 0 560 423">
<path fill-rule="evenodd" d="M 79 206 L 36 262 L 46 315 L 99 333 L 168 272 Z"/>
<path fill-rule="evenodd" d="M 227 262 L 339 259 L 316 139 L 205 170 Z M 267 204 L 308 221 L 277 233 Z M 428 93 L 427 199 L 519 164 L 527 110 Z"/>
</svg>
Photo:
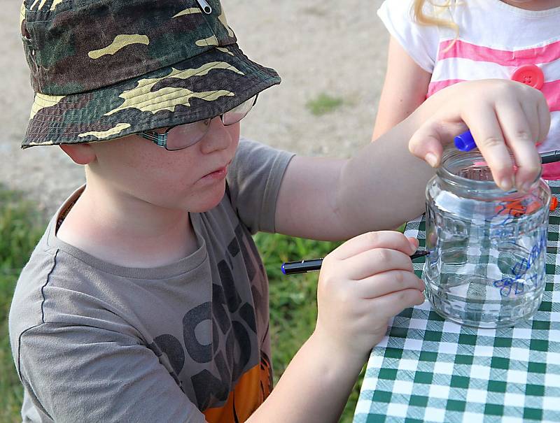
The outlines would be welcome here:
<svg viewBox="0 0 560 423">
<path fill-rule="evenodd" d="M 334 423 L 388 320 L 424 301 L 409 254 L 418 241 L 394 231 L 352 238 L 323 259 L 317 324 L 248 422 Z"/>
</svg>

